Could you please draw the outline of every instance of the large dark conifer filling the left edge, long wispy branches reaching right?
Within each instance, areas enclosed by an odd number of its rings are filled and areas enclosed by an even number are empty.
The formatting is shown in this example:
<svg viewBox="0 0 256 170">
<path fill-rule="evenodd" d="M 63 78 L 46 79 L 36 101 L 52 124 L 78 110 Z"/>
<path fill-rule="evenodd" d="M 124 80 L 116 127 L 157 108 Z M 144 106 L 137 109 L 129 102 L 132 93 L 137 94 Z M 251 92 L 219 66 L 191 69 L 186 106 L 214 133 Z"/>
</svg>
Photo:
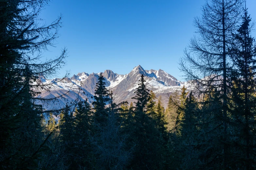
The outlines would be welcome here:
<svg viewBox="0 0 256 170">
<path fill-rule="evenodd" d="M 45 88 L 39 75 L 57 73 L 65 64 L 66 50 L 55 59 L 38 63 L 47 46 L 55 43 L 61 24 L 60 17 L 51 25 L 42 26 L 39 14 L 46 3 L 47 0 L 0 2 L 1 169 L 40 169 L 51 135 L 45 136 L 41 127 L 51 111 L 45 113 L 39 105 L 40 101 L 50 101 L 37 97 L 38 88 Z"/>
</svg>

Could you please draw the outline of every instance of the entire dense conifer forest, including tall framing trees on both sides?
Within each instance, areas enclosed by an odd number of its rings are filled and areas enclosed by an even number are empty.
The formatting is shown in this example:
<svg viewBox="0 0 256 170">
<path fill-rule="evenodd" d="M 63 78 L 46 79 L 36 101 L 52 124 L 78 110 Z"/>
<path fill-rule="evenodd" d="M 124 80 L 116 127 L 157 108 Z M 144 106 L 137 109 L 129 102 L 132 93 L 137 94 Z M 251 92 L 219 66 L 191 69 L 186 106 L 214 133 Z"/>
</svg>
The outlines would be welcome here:
<svg viewBox="0 0 256 170">
<path fill-rule="evenodd" d="M 61 16 L 43 24 L 48 2 L 0 1 L 0 169 L 256 169 L 256 44 L 243 0 L 202 6 L 179 64 L 193 90 L 169 94 L 166 108 L 142 74 L 134 103 L 116 103 L 100 75 L 94 102 L 51 109 L 65 95 L 43 98 L 52 84 L 40 77 L 58 74 L 67 50 L 42 59 L 62 26 Z"/>
</svg>

